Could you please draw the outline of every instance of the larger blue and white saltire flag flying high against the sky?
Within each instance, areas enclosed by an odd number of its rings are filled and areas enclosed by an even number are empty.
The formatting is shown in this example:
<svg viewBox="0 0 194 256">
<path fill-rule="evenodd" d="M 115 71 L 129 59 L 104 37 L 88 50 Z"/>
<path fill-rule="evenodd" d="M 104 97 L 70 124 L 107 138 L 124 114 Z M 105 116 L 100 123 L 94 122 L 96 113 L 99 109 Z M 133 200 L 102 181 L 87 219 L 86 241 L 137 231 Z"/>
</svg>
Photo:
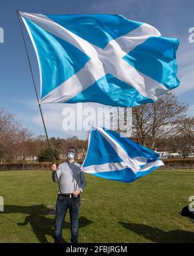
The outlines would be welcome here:
<svg viewBox="0 0 194 256">
<path fill-rule="evenodd" d="M 41 103 L 133 107 L 178 86 L 178 40 L 120 15 L 19 12 L 39 64 Z"/>
</svg>

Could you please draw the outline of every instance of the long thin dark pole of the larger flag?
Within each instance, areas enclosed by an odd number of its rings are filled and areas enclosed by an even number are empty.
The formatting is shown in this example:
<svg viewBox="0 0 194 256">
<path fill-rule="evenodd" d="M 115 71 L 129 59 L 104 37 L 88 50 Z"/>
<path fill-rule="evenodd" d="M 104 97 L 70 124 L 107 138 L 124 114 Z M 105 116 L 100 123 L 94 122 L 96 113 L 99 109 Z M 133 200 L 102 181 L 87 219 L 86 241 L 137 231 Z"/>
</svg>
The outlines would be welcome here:
<svg viewBox="0 0 194 256">
<path fill-rule="evenodd" d="M 34 81 L 34 75 L 32 73 L 32 66 L 30 64 L 30 58 L 29 58 L 29 55 L 28 55 L 28 49 L 27 49 L 27 44 L 26 44 L 26 41 L 25 41 L 25 36 L 24 36 L 24 32 L 23 32 L 23 27 L 22 27 L 22 24 L 21 24 L 21 17 L 20 17 L 20 14 L 19 14 L 19 10 L 17 10 L 17 14 L 18 14 L 18 18 L 19 18 L 19 24 L 20 24 L 20 27 L 21 27 L 21 32 L 22 32 L 22 36 L 23 36 L 23 41 L 24 41 L 24 44 L 25 44 L 25 50 L 26 50 L 26 53 L 27 53 L 27 58 L 28 58 L 28 64 L 29 64 L 29 67 L 30 67 L 30 72 L 31 72 L 31 75 L 32 75 L 32 81 L 33 81 L 33 84 L 34 84 L 34 90 L 35 90 L 35 93 L 36 93 L 36 99 L 38 100 L 38 107 L 39 107 L 39 111 L 40 111 L 40 114 L 41 114 L 41 119 L 43 121 L 43 126 L 44 126 L 44 129 L 45 129 L 45 134 L 46 134 L 46 137 L 47 137 L 47 143 L 48 143 L 48 148 L 49 148 L 49 151 L 50 151 L 50 156 L 52 158 L 52 164 L 54 164 L 54 158 L 52 156 L 52 150 L 50 148 L 50 143 L 49 143 L 49 140 L 48 140 L 48 134 L 47 134 L 47 129 L 46 129 L 46 126 L 45 126 L 45 121 L 44 121 L 44 118 L 43 118 L 43 113 L 42 113 L 42 110 L 41 110 L 41 104 L 39 103 L 39 98 L 38 98 L 38 92 L 37 92 L 37 89 L 36 89 L 36 84 L 35 84 L 35 81 Z M 58 181 L 58 186 L 59 186 L 59 191 L 61 193 L 61 187 L 59 185 L 59 179 L 58 179 L 58 175 L 57 173 L 55 172 L 56 174 L 56 178 L 57 178 L 57 181 Z M 61 193 L 62 194 L 62 193 Z"/>
</svg>

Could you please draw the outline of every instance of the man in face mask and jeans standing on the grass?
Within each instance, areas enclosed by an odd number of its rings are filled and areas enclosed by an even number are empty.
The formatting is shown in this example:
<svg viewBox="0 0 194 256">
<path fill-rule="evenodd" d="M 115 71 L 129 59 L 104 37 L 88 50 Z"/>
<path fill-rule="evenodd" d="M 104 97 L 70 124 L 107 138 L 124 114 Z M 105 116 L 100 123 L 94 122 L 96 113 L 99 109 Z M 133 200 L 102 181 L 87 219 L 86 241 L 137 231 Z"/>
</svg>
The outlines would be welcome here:
<svg viewBox="0 0 194 256">
<path fill-rule="evenodd" d="M 56 202 L 56 218 L 54 225 L 54 242 L 62 242 L 62 227 L 65 215 L 69 209 L 70 214 L 70 242 L 78 243 L 80 194 L 85 187 L 85 176 L 80 172 L 80 165 L 74 161 L 76 148 L 68 149 L 67 162 L 52 165 L 52 180 L 55 182 L 58 176 L 61 193 L 58 192 Z"/>
</svg>

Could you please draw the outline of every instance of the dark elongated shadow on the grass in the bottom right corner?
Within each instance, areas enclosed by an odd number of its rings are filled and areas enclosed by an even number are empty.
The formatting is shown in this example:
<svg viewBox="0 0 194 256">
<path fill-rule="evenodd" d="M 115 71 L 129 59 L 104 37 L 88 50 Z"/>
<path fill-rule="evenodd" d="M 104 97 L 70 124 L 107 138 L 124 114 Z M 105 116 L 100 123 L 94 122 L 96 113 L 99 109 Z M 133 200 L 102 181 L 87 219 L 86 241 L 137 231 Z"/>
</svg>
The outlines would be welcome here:
<svg viewBox="0 0 194 256">
<path fill-rule="evenodd" d="M 194 232 L 175 229 L 163 231 L 156 227 L 150 227 L 144 224 L 118 222 L 122 227 L 143 236 L 151 242 L 194 242 Z M 191 224 L 193 225 L 193 224 Z"/>
</svg>

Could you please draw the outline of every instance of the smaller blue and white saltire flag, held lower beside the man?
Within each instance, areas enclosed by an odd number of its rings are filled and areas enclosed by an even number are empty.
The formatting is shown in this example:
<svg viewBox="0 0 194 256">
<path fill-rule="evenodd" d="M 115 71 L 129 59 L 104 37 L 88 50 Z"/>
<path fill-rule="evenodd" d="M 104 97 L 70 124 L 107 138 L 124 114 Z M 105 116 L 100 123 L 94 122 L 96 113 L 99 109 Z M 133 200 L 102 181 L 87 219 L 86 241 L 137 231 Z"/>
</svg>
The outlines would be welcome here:
<svg viewBox="0 0 194 256">
<path fill-rule="evenodd" d="M 133 182 L 162 165 L 153 150 L 118 132 L 93 125 L 81 170 L 109 180 Z"/>
</svg>

